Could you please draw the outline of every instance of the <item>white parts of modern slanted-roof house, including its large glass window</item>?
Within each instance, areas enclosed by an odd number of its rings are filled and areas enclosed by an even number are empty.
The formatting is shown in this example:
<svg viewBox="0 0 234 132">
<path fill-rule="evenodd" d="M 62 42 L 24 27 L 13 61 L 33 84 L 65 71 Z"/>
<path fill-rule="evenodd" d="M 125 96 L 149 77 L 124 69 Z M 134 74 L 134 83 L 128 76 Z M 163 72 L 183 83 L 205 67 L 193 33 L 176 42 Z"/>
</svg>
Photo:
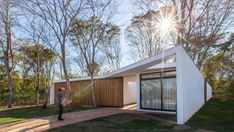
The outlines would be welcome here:
<svg viewBox="0 0 234 132">
<path fill-rule="evenodd" d="M 122 78 L 123 86 L 119 88 L 122 90 L 119 94 L 121 106 L 136 103 L 138 111 L 176 114 L 178 124 L 188 121 L 212 97 L 211 86 L 181 46 L 120 68 L 97 80 L 108 78 Z M 83 80 L 89 78 L 71 81 Z M 55 100 L 55 91 L 51 89 L 51 104 Z"/>
</svg>

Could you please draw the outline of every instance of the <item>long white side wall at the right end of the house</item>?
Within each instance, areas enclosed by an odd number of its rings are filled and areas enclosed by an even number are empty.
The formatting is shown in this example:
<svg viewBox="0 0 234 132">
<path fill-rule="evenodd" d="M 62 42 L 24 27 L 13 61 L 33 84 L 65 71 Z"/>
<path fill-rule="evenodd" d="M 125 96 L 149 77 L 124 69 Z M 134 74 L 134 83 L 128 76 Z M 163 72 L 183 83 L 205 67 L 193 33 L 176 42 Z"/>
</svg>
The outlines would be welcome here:
<svg viewBox="0 0 234 132">
<path fill-rule="evenodd" d="M 176 50 L 177 123 L 184 124 L 204 104 L 204 77 L 182 47 Z"/>
</svg>

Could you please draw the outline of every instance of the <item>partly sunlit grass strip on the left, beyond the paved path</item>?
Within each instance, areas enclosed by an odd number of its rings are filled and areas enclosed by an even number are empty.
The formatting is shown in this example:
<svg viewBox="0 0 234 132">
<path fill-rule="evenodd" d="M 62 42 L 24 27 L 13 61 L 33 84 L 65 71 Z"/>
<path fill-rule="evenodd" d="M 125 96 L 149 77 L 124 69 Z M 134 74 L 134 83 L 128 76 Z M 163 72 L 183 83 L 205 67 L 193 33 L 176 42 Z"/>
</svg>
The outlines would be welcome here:
<svg viewBox="0 0 234 132">
<path fill-rule="evenodd" d="M 92 107 L 72 105 L 72 109 L 64 108 L 64 112 L 66 113 L 72 111 L 82 111 L 91 108 Z M 46 109 L 43 109 L 41 106 L 38 106 L 30 108 L 5 110 L 5 111 L 0 111 L 0 124 L 12 123 L 29 118 L 44 117 L 56 114 L 58 114 L 58 106 L 56 105 L 48 106 Z"/>
</svg>

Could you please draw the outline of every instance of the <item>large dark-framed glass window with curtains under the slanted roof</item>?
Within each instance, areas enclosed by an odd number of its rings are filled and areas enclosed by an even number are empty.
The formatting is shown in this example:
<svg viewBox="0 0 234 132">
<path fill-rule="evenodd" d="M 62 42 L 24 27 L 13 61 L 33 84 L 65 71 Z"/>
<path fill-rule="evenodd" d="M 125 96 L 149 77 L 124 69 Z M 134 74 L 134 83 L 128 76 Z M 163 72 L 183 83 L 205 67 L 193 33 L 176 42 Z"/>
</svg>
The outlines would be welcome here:
<svg viewBox="0 0 234 132">
<path fill-rule="evenodd" d="M 141 108 L 176 110 L 176 72 L 141 75 Z"/>
</svg>

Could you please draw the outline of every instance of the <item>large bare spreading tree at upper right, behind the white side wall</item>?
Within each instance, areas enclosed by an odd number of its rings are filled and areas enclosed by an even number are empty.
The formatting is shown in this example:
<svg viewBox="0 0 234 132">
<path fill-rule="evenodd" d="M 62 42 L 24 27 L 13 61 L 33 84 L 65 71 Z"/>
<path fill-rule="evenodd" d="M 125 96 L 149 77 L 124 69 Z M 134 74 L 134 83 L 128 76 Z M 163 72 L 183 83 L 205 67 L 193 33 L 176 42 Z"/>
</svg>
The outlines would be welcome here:
<svg viewBox="0 0 234 132">
<path fill-rule="evenodd" d="M 233 24 L 233 0 L 135 0 L 134 4 L 140 9 L 140 14 L 162 7 L 175 9 L 177 25 L 171 41 L 182 45 L 199 69 L 213 54 L 215 45 L 225 38 L 226 29 Z"/>
</svg>

